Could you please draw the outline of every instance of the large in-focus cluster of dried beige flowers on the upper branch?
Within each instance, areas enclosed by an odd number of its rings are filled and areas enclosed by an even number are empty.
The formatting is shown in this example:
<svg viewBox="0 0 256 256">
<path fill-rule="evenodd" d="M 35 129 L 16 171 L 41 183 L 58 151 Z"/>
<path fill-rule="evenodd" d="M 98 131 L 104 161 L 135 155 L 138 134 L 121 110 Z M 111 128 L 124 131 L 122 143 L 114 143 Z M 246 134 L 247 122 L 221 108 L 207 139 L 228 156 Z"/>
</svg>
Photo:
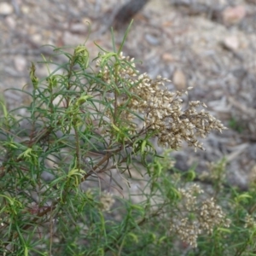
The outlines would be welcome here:
<svg viewBox="0 0 256 256">
<path fill-rule="evenodd" d="M 119 55 L 118 74 L 113 73 L 110 69 L 111 64 L 108 66 L 104 64 L 105 62 L 105 55 L 100 56 L 96 62 L 97 67 L 102 67 L 100 74 L 103 81 L 113 84 L 115 89 L 125 88 L 127 94 L 131 96 L 131 101 L 128 103 L 128 95 L 120 95 L 118 99 L 116 96 L 110 98 L 112 101 L 118 100 L 116 107 L 122 109 L 119 118 L 127 124 L 127 120 L 134 121 L 133 113 L 139 113 L 144 119 L 143 129 L 156 132 L 155 136 L 158 137 L 160 146 L 177 149 L 185 141 L 189 146 L 195 147 L 195 150 L 203 149 L 196 137 L 204 138 L 212 130 L 225 129 L 218 119 L 204 109 L 197 111 L 199 107 L 207 108 L 204 103 L 189 102 L 189 108 L 183 110 L 181 96 L 188 92 L 170 92 L 165 85 L 166 82 L 171 82 L 170 80 L 161 76 L 150 79 L 147 73 L 140 74 L 136 70 L 134 60 L 130 60 L 129 56 L 125 57 L 122 53 Z M 110 112 L 108 116 L 113 121 Z M 130 125 L 134 128 L 134 123 L 130 122 Z"/>
</svg>

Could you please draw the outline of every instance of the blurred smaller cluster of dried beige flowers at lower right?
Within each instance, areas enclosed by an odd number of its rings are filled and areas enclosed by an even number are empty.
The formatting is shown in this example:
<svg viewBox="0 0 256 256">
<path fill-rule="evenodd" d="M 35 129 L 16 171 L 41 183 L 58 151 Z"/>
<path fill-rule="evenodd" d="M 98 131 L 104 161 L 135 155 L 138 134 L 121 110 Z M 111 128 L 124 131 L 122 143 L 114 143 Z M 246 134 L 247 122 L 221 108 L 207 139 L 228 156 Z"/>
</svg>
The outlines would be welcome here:
<svg viewBox="0 0 256 256">
<path fill-rule="evenodd" d="M 230 219 L 225 217 L 213 198 L 202 201 L 196 196 L 204 192 L 197 184 L 179 189 L 179 192 L 183 204 L 179 207 L 178 217 L 172 219 L 171 231 L 182 241 L 188 242 L 191 247 L 197 247 L 197 238 L 203 232 L 212 234 L 214 227 L 230 226 Z M 194 214 L 193 219 L 189 218 L 191 213 Z"/>
</svg>

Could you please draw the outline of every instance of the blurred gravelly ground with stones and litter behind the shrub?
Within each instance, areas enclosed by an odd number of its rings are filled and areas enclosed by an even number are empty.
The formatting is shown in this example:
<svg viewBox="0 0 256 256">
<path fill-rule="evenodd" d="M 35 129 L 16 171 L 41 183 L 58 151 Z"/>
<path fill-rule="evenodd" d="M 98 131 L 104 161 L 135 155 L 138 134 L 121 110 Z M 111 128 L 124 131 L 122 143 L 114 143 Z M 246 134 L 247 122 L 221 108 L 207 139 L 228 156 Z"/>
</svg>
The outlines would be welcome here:
<svg viewBox="0 0 256 256">
<path fill-rule="evenodd" d="M 94 40 L 111 49 L 108 26 L 122 3 L 125 1 L 1 1 L 0 93 L 9 108 L 28 101 L 6 89 L 28 83 L 30 62 L 51 53 L 42 44 L 83 44 L 89 21 L 86 45 L 91 55 L 97 53 Z M 193 86 L 189 100 L 206 102 L 224 125 L 233 122 L 234 129 L 207 138 L 206 151 L 195 153 L 184 146 L 175 153 L 177 167 L 186 170 L 197 163 L 202 172 L 207 162 L 226 156 L 230 182 L 241 187 L 256 174 L 255 21 L 253 0 L 151 0 L 135 17 L 124 48 L 125 55 L 143 61 L 142 72 L 172 79 L 170 90 Z M 117 44 L 124 31 L 125 27 L 115 32 Z M 38 75 L 45 72 L 39 65 Z"/>
</svg>

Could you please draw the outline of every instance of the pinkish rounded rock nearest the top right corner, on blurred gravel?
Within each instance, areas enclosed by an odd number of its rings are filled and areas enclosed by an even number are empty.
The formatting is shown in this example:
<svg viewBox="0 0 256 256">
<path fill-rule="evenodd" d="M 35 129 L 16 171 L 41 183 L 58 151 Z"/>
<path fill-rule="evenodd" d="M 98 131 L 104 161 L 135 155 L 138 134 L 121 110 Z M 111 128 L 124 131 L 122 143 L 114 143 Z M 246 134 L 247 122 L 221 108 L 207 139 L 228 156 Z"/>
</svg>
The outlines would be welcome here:
<svg viewBox="0 0 256 256">
<path fill-rule="evenodd" d="M 243 5 L 237 5 L 236 7 L 229 7 L 224 9 L 222 17 L 224 24 L 235 25 L 239 23 L 247 14 L 247 11 Z"/>
</svg>

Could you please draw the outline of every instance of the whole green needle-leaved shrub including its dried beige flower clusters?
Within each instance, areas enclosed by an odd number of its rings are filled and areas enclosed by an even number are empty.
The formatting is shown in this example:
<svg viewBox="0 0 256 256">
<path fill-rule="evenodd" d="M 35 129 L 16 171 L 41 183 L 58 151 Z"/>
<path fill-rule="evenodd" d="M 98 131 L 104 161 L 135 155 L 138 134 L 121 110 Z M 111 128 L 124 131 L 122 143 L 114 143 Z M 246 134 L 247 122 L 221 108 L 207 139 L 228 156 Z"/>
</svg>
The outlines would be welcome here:
<svg viewBox="0 0 256 256">
<path fill-rule="evenodd" d="M 183 109 L 187 91 L 170 92 L 168 79 L 139 73 L 123 44 L 113 52 L 99 47 L 96 67 L 84 45 L 73 54 L 54 48 L 67 62 L 44 58 L 49 75 L 43 79 L 32 63 L 32 91 L 21 90 L 32 100 L 26 114 L 1 103 L 1 255 L 253 252 L 253 211 L 246 215 L 241 203 L 251 206 L 255 191 L 226 193 L 217 186 L 218 193 L 207 195 L 195 172 L 175 170 L 169 151 L 160 156 L 152 143 L 202 149 L 197 137 L 224 125 L 201 102 Z M 102 189 L 121 191 L 135 173 L 146 181 L 137 203 Z M 223 208 L 233 211 L 232 227 Z"/>
</svg>

